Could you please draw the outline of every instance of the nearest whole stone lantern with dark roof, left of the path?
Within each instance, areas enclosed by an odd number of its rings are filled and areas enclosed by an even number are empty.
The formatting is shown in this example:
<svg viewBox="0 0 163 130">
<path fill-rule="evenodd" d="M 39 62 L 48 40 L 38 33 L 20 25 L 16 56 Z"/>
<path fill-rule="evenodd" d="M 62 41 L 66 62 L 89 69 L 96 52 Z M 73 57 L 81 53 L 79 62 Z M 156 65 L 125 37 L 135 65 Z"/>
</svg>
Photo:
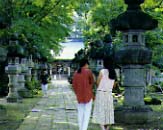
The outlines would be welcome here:
<svg viewBox="0 0 163 130">
<path fill-rule="evenodd" d="M 13 35 L 9 40 L 8 46 L 8 66 L 5 68 L 5 72 L 9 77 L 9 94 L 7 96 L 8 102 L 17 102 L 20 99 L 18 94 L 18 90 L 21 89 L 22 82 L 24 82 L 23 77 L 21 75 L 21 65 L 19 63 L 20 57 L 24 55 L 24 49 L 19 45 L 19 41 L 17 40 L 17 35 Z"/>
</svg>

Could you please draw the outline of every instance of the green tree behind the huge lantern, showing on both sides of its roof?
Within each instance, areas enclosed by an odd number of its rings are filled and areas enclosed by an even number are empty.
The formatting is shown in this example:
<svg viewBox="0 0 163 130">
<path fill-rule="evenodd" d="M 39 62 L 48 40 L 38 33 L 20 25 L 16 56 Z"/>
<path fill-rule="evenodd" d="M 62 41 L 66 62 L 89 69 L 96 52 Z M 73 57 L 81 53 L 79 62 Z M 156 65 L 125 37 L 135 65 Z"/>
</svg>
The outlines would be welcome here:
<svg viewBox="0 0 163 130">
<path fill-rule="evenodd" d="M 89 2 L 88 2 L 89 3 Z M 104 36 L 109 33 L 113 33 L 110 30 L 110 20 L 117 17 L 119 14 L 126 10 L 126 5 L 121 0 L 95 0 L 90 2 L 91 6 L 88 11 L 86 11 L 86 25 L 87 27 L 83 31 L 86 38 L 85 42 L 88 46 L 89 43 L 103 40 Z M 92 4 L 93 3 L 93 4 Z M 159 46 L 163 45 L 163 0 L 146 0 L 141 5 L 143 11 L 152 15 L 155 19 L 159 21 L 159 27 L 155 30 L 151 30 L 145 33 L 146 35 L 146 45 L 148 48 L 153 50 L 152 61 L 155 65 L 163 59 L 161 48 Z M 121 45 L 121 33 L 116 32 L 113 38 L 113 45 L 115 48 L 119 48 Z M 118 43 L 118 44 L 117 44 Z M 99 47 L 98 47 L 99 48 Z M 100 48 L 99 48 L 100 49 Z M 96 49 L 97 50 L 97 49 Z M 157 51 L 159 50 L 160 53 Z M 157 59 L 157 60 L 156 60 Z M 159 62 L 158 62 L 159 61 Z M 163 63 L 162 63 L 163 64 Z"/>
</svg>

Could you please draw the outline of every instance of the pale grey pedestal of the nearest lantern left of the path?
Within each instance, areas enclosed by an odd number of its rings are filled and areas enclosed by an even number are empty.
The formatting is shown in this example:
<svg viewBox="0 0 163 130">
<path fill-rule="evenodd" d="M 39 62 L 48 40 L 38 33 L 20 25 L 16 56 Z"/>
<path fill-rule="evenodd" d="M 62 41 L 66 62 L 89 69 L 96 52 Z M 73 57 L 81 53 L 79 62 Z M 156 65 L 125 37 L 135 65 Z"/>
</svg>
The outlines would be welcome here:
<svg viewBox="0 0 163 130">
<path fill-rule="evenodd" d="M 18 64 L 9 63 L 8 66 L 5 68 L 6 73 L 9 77 L 9 93 L 7 98 L 7 102 L 17 102 L 20 97 L 17 92 L 18 86 L 18 74 L 21 72 L 21 68 Z"/>
</svg>

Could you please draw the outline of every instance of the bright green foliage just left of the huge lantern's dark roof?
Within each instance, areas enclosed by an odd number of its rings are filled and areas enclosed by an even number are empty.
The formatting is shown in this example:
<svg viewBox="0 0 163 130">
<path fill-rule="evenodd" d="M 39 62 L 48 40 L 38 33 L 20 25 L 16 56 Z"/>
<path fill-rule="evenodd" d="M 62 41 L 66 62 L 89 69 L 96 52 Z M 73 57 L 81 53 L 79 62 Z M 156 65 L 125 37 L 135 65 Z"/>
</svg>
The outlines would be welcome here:
<svg viewBox="0 0 163 130">
<path fill-rule="evenodd" d="M 115 18 L 120 12 L 123 12 L 124 8 L 125 6 L 121 0 L 96 0 L 93 6 L 90 7 L 89 12 L 87 12 L 87 28 L 84 30 L 86 38 L 89 41 L 100 40 L 110 33 L 110 20 Z"/>
</svg>

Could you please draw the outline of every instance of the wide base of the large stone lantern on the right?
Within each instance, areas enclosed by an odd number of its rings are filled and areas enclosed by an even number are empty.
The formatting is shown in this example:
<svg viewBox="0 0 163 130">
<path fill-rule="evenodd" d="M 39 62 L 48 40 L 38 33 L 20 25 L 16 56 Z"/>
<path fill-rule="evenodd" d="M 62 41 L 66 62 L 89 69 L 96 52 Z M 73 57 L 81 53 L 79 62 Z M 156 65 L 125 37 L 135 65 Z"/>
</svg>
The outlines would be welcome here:
<svg viewBox="0 0 163 130">
<path fill-rule="evenodd" d="M 125 107 L 115 109 L 115 122 L 125 124 L 148 124 L 156 120 L 154 112 L 148 106 Z"/>
</svg>

